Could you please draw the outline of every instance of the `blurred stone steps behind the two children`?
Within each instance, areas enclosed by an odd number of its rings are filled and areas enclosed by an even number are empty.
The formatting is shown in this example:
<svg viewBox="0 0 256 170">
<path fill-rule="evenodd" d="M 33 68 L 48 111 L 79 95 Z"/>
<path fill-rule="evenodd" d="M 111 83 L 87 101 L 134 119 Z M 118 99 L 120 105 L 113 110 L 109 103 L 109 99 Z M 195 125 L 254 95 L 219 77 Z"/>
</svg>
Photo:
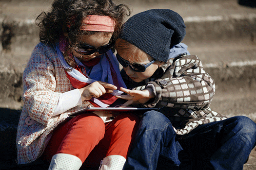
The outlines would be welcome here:
<svg viewBox="0 0 256 170">
<path fill-rule="evenodd" d="M 0 0 L 0 148 L 15 145 L 3 136 L 15 137 L 10 134 L 15 134 L 23 105 L 22 72 L 39 43 L 35 18 L 50 10 L 52 1 Z M 132 15 L 153 8 L 180 14 L 186 25 L 182 42 L 216 81 L 212 110 L 228 117 L 244 115 L 256 122 L 256 0 L 116 2 L 127 4 Z M 256 154 L 244 167 L 256 170 Z"/>
</svg>

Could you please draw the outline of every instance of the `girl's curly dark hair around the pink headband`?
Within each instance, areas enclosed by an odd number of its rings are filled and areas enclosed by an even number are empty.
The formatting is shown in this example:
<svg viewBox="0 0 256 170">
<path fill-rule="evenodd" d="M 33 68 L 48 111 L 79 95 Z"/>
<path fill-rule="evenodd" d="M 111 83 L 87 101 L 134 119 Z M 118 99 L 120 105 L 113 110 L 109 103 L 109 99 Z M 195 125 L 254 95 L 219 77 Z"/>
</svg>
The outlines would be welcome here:
<svg viewBox="0 0 256 170">
<path fill-rule="evenodd" d="M 116 22 L 115 32 L 111 38 L 115 41 L 124 18 L 130 14 L 127 5 L 117 5 L 112 0 L 54 0 L 50 12 L 42 12 L 36 21 L 39 26 L 40 42 L 54 44 L 62 34 L 68 34 L 70 44 L 67 49 L 70 49 L 82 35 L 97 34 L 97 32 L 80 30 L 83 18 L 88 15 L 111 17 Z M 109 33 L 104 32 L 104 34 Z M 67 57 L 65 59 L 69 60 Z M 68 61 L 68 63 L 73 65 L 72 62 Z"/>
</svg>

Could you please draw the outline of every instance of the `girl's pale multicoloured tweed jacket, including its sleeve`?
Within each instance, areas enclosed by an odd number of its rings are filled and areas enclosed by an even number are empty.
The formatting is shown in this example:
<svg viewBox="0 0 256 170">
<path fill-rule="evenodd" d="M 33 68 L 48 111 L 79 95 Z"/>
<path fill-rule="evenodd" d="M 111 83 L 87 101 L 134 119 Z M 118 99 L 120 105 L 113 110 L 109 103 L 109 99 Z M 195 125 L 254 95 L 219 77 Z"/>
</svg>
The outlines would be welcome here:
<svg viewBox="0 0 256 170">
<path fill-rule="evenodd" d="M 68 113 L 87 107 L 89 102 L 58 116 L 52 114 L 63 92 L 74 89 L 70 84 L 54 47 L 39 43 L 23 73 L 24 105 L 17 131 L 18 164 L 35 161 L 43 152 L 46 138 Z"/>
</svg>

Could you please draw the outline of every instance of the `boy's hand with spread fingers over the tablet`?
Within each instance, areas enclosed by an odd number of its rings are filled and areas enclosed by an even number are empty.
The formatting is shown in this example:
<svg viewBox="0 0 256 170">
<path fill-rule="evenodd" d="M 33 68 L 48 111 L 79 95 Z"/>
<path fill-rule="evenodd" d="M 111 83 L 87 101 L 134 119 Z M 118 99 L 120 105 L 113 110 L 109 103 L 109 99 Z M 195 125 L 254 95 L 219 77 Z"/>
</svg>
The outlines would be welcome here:
<svg viewBox="0 0 256 170">
<path fill-rule="evenodd" d="M 144 90 L 129 90 L 123 87 L 120 87 L 120 91 L 123 91 L 127 93 L 127 95 L 117 95 L 117 98 L 128 100 L 124 104 L 122 104 L 122 107 L 129 106 L 131 104 L 136 103 L 146 103 L 150 99 L 156 97 L 153 93 L 152 88 L 146 88 Z"/>
</svg>

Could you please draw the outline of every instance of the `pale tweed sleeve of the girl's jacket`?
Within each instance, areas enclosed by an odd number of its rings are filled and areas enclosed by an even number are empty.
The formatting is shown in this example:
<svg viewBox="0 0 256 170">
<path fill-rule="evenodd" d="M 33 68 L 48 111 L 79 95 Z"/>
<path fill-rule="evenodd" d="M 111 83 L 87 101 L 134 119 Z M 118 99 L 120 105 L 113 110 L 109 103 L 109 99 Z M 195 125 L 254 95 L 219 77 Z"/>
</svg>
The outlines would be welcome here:
<svg viewBox="0 0 256 170">
<path fill-rule="evenodd" d="M 47 125 L 59 101 L 56 91 L 56 66 L 53 50 L 39 44 L 34 49 L 23 73 L 23 110 L 43 125 Z"/>
</svg>

